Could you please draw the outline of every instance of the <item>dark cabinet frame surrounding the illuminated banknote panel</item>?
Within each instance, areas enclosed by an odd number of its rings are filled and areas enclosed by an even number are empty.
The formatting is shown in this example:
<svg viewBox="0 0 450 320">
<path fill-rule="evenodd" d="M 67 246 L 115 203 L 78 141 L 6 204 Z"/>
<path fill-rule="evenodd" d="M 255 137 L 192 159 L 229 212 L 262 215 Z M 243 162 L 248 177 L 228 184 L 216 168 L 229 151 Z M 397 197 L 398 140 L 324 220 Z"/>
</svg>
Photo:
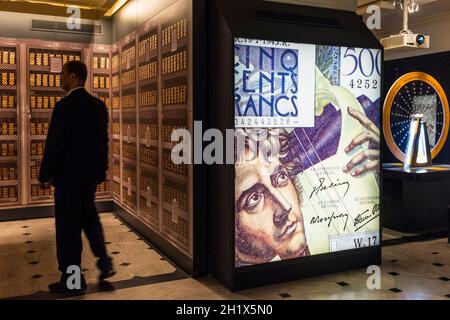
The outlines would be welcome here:
<svg viewBox="0 0 450 320">
<path fill-rule="evenodd" d="M 210 127 L 224 135 L 226 129 L 234 128 L 235 38 L 382 49 L 353 12 L 253 0 L 215 0 L 208 10 L 208 103 L 214 106 L 209 109 L 208 118 Z M 242 290 L 381 263 L 379 245 L 236 268 L 234 179 L 234 165 L 216 165 L 210 170 L 210 271 L 229 289 Z"/>
</svg>

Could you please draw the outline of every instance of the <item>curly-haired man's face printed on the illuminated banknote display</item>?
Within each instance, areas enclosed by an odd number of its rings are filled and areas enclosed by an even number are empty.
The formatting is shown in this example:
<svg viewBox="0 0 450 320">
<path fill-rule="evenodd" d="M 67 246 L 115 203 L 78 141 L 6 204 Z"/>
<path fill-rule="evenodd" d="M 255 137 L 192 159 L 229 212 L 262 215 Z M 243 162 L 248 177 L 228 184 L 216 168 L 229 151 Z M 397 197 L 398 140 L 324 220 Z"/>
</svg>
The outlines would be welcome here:
<svg viewBox="0 0 450 320">
<path fill-rule="evenodd" d="M 257 131 L 236 132 L 247 139 L 237 148 L 235 165 L 236 266 L 309 255 L 301 186 L 294 181 L 299 167 L 284 161 L 290 150 L 287 134 L 272 129 L 262 137 Z M 275 154 L 264 152 L 273 149 Z"/>
</svg>

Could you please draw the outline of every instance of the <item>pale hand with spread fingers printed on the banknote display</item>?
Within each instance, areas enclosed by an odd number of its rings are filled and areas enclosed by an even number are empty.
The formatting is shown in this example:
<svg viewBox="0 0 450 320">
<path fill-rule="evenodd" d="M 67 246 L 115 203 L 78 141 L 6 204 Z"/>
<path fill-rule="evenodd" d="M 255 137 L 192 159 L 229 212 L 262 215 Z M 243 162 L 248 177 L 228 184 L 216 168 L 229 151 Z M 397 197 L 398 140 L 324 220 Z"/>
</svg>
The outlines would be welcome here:
<svg viewBox="0 0 450 320">
<path fill-rule="evenodd" d="M 358 120 L 361 125 L 367 129 L 363 133 L 357 135 L 352 142 L 345 148 L 345 152 L 352 152 L 357 146 L 369 141 L 377 149 L 367 149 L 361 151 L 349 163 L 342 169 L 345 173 L 350 172 L 352 169 L 355 170 L 352 176 L 357 177 L 369 171 L 379 172 L 380 167 L 380 130 L 378 127 L 364 114 L 361 112 L 348 108 L 348 113 L 354 119 Z M 366 161 L 368 160 L 368 161 Z"/>
</svg>

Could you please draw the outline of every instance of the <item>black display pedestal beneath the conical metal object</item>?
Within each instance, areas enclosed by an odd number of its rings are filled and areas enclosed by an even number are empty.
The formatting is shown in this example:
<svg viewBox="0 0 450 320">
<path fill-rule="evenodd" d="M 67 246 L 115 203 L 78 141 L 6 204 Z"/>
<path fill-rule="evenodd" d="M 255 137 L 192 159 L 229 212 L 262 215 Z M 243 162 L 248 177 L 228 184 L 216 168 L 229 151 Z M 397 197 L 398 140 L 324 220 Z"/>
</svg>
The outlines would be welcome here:
<svg viewBox="0 0 450 320">
<path fill-rule="evenodd" d="M 401 232 L 448 226 L 450 166 L 383 166 L 382 226 Z"/>
</svg>

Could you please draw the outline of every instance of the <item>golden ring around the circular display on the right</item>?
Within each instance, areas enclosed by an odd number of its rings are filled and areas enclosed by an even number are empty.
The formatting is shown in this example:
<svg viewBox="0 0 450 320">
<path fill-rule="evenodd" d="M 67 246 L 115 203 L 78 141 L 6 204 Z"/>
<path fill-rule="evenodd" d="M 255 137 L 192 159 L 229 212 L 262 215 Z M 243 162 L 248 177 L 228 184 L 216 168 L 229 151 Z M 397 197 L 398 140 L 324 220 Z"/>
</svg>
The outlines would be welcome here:
<svg viewBox="0 0 450 320">
<path fill-rule="evenodd" d="M 396 141 L 394 140 L 394 136 L 392 134 L 391 130 L 391 110 L 392 105 L 394 103 L 395 98 L 399 94 L 399 92 L 405 88 L 408 84 L 414 83 L 416 81 L 424 82 L 428 84 L 438 95 L 441 105 L 442 105 L 442 112 L 443 112 L 443 123 L 442 123 L 442 131 L 441 135 L 439 137 L 439 140 L 437 141 L 436 145 L 431 150 L 431 158 L 434 159 L 439 152 L 444 147 L 445 141 L 447 140 L 448 135 L 448 127 L 449 127 L 449 110 L 448 110 L 448 100 L 447 96 L 444 92 L 444 89 L 440 85 L 440 83 L 433 78 L 431 75 L 423 72 L 410 72 L 403 76 L 401 76 L 395 83 L 392 85 L 392 87 L 389 89 L 389 92 L 386 96 L 386 100 L 384 101 L 383 106 L 383 133 L 384 138 L 386 140 L 386 144 L 389 148 L 389 150 L 392 152 L 392 154 L 401 162 L 405 161 L 406 155 L 405 153 L 400 149 L 400 147 L 397 145 Z"/>
</svg>

